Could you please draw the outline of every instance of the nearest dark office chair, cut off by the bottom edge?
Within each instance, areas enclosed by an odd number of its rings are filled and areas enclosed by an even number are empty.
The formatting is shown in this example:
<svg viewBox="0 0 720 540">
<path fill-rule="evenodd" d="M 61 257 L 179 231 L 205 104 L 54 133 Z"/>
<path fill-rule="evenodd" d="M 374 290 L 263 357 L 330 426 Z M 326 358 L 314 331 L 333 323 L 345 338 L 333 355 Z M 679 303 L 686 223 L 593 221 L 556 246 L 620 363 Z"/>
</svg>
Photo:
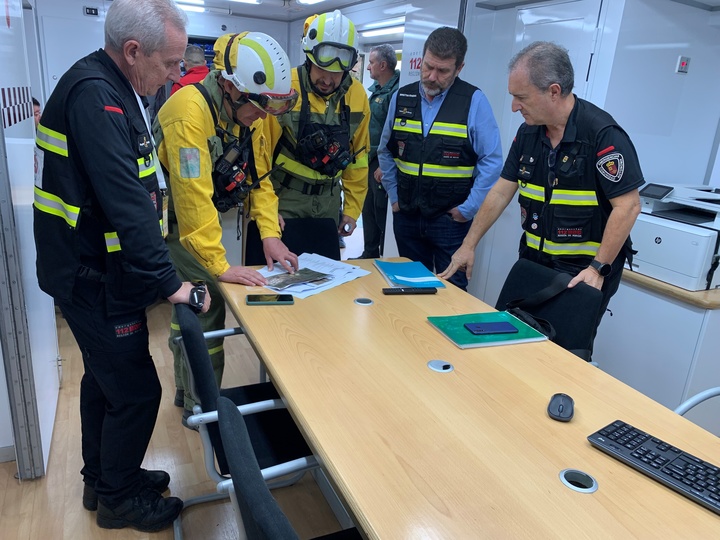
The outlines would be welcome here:
<svg viewBox="0 0 720 540">
<path fill-rule="evenodd" d="M 218 399 L 217 412 L 231 477 L 218 484 L 218 491 L 230 494 L 240 540 L 298 540 L 267 487 L 266 470 L 261 470 L 255 459 L 243 415 L 225 397 Z M 361 536 L 357 529 L 351 528 L 320 538 L 351 540 Z"/>
</svg>

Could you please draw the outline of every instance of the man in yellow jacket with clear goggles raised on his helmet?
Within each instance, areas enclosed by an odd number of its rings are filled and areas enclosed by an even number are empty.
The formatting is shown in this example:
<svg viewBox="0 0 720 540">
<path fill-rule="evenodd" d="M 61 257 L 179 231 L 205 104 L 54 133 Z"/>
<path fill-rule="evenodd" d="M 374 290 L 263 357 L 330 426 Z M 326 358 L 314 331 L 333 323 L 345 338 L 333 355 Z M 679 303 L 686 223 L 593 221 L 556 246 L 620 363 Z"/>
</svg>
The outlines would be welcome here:
<svg viewBox="0 0 720 540">
<path fill-rule="evenodd" d="M 292 70 L 300 99 L 288 114 L 263 122 L 272 162 L 258 163 L 258 173 L 275 167 L 270 178 L 285 222 L 284 240 L 298 254 L 339 259 L 337 235 L 355 230 L 367 193 L 370 108 L 365 89 L 349 73 L 358 58 L 356 43 L 355 25 L 340 11 L 308 18 L 302 39 L 307 59 Z M 260 250 L 250 246 L 280 230 L 272 205 L 263 204 L 265 196 L 250 194 L 255 221 L 247 233 L 247 264 L 263 262 Z M 308 221 L 315 225 L 307 227 Z M 291 239 L 299 223 L 302 232 Z"/>
</svg>

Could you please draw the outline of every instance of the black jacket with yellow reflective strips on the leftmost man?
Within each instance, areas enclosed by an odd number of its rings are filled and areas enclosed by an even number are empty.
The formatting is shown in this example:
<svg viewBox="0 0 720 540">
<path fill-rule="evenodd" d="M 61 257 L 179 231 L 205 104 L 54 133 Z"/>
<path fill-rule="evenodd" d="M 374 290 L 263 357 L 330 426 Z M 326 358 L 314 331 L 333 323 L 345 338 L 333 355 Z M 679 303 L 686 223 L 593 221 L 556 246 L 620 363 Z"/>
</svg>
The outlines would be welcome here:
<svg viewBox="0 0 720 540">
<path fill-rule="evenodd" d="M 153 144 L 137 95 L 103 50 L 79 60 L 43 111 L 34 232 L 40 288 L 73 302 L 105 284 L 108 314 L 143 309 L 181 286 L 165 246 Z"/>
</svg>

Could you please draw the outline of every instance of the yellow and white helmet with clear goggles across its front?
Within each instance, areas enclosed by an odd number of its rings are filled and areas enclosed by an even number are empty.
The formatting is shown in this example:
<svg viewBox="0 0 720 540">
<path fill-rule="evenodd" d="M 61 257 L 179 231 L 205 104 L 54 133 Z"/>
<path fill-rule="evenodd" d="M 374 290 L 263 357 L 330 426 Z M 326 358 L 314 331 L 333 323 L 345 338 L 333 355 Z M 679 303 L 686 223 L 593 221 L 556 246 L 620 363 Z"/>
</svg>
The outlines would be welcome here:
<svg viewBox="0 0 720 540">
<path fill-rule="evenodd" d="M 310 61 L 326 71 L 350 71 L 358 59 L 355 25 L 338 9 L 308 17 L 302 45 Z"/>
</svg>

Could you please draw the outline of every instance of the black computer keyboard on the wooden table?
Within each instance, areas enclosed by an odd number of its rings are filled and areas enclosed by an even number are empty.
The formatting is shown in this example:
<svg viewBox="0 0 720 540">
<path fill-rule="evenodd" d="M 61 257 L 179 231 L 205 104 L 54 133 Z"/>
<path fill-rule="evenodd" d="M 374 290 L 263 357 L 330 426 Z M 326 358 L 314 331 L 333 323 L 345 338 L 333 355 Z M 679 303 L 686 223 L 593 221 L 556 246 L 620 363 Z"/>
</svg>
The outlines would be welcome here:
<svg viewBox="0 0 720 540">
<path fill-rule="evenodd" d="M 590 444 L 720 514 L 720 466 L 683 452 L 621 420 L 588 437 Z"/>
</svg>

